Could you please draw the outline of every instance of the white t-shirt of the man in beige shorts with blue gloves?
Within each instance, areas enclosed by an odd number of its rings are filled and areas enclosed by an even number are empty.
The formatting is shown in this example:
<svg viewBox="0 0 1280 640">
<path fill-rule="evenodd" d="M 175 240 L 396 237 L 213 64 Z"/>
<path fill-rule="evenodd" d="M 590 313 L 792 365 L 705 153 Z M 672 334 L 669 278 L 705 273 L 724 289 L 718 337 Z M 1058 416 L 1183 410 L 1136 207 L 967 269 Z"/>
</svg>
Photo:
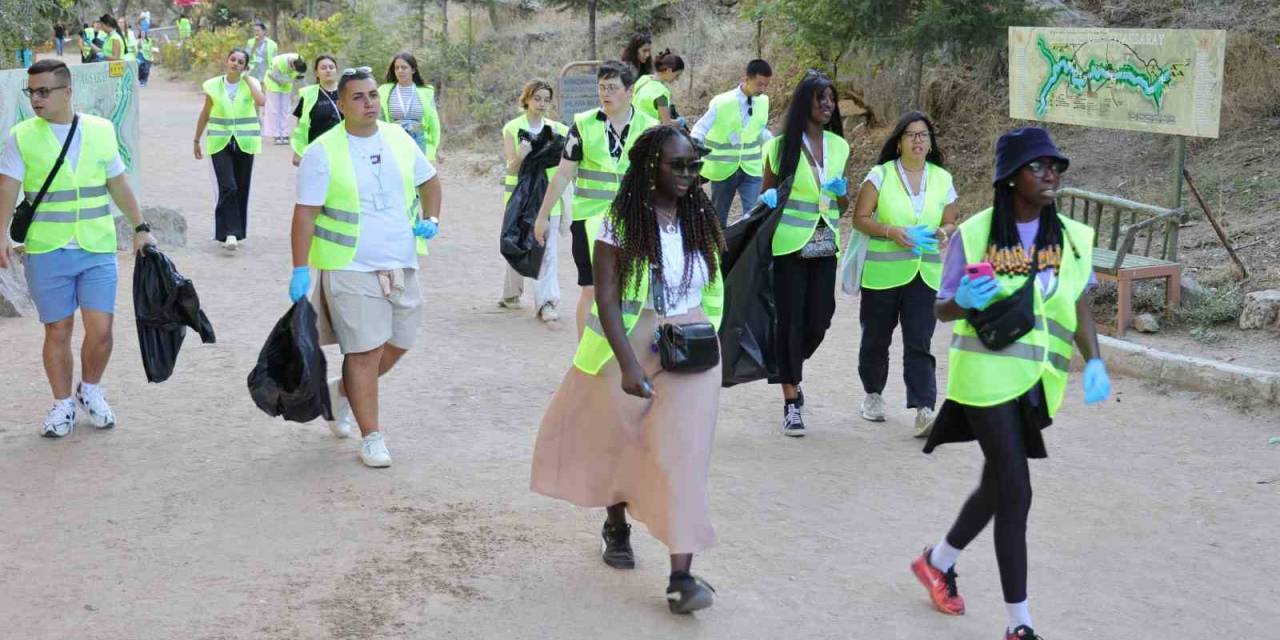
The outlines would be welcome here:
<svg viewBox="0 0 1280 640">
<path fill-rule="evenodd" d="M 347 134 L 351 161 L 360 191 L 360 239 L 356 259 L 343 271 L 417 269 L 413 229 L 406 220 L 412 202 L 404 202 L 399 166 L 381 132 L 370 137 Z M 413 150 L 413 184 L 435 177 L 435 168 L 420 150 Z M 329 156 L 321 145 L 311 145 L 298 165 L 298 204 L 324 206 L 329 191 Z"/>
</svg>

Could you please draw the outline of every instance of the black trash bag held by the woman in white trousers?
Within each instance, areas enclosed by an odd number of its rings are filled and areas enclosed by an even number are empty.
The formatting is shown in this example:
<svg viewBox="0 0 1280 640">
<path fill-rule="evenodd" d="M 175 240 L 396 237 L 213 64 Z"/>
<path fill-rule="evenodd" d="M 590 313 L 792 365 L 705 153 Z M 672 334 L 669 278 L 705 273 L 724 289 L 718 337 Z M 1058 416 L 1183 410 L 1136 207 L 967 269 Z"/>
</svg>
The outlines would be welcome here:
<svg viewBox="0 0 1280 640">
<path fill-rule="evenodd" d="M 536 136 L 521 131 L 521 140 L 532 143 L 532 151 L 520 164 L 516 178 L 516 191 L 507 201 L 507 211 L 502 216 L 502 234 L 498 237 L 498 251 L 520 275 L 538 278 L 543 265 L 545 248 L 534 239 L 534 220 L 538 209 L 547 196 L 547 169 L 559 164 L 564 151 L 564 136 L 543 127 Z M 552 230 L 554 233 L 554 229 Z"/>
</svg>

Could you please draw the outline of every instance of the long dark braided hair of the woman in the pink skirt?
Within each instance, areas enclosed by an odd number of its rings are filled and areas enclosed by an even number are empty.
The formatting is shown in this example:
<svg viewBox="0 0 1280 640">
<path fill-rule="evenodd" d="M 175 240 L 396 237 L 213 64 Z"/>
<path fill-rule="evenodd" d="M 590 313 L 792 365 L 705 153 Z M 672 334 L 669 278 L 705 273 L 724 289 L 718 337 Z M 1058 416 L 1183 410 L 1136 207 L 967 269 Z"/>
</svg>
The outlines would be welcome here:
<svg viewBox="0 0 1280 640">
<path fill-rule="evenodd" d="M 618 242 L 618 287 L 623 292 L 628 291 L 628 285 L 637 288 L 650 265 L 659 279 L 658 283 L 649 283 L 650 291 L 659 285 L 667 288 L 658 215 L 649 198 L 657 188 L 662 148 L 667 141 L 676 137 L 684 137 L 692 145 L 692 140 L 684 129 L 662 125 L 640 134 L 627 154 L 631 166 L 622 178 L 618 195 L 609 207 L 609 223 Z M 685 273 L 678 289 L 680 296 L 684 296 L 692 282 L 691 259 L 695 255 L 707 265 L 708 278 L 716 278 L 724 238 L 710 200 L 696 183 L 690 187 L 689 193 L 676 201 L 676 220 L 680 223 L 685 244 Z"/>
</svg>

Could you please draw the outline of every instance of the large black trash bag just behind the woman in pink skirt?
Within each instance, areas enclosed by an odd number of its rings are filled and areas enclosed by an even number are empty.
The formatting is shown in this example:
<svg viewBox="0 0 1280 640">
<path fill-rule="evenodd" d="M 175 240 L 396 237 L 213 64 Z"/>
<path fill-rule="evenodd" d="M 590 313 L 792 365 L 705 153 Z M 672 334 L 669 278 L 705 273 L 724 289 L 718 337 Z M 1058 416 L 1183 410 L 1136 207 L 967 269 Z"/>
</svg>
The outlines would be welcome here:
<svg viewBox="0 0 1280 640">
<path fill-rule="evenodd" d="M 776 378 L 774 334 L 778 314 L 773 297 L 773 232 L 791 179 L 778 187 L 778 206 L 758 202 L 724 229 L 724 317 L 721 321 L 721 385 Z"/>
</svg>

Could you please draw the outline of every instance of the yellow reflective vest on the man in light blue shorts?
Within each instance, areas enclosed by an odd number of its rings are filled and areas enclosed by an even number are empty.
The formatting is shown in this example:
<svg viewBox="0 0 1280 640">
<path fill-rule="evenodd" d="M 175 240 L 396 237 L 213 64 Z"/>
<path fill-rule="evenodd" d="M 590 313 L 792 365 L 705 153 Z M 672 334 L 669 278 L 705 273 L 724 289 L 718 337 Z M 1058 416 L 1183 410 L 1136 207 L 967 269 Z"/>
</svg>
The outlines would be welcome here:
<svg viewBox="0 0 1280 640">
<path fill-rule="evenodd" d="M 110 120 L 79 114 L 81 148 L 76 165 L 64 163 L 27 230 L 27 253 L 56 251 L 73 238 L 91 253 L 115 251 L 115 223 L 106 191 L 106 168 L 119 154 Z M 22 188 L 36 200 L 63 145 L 44 118 L 28 118 L 13 127 L 26 173 Z"/>
</svg>

